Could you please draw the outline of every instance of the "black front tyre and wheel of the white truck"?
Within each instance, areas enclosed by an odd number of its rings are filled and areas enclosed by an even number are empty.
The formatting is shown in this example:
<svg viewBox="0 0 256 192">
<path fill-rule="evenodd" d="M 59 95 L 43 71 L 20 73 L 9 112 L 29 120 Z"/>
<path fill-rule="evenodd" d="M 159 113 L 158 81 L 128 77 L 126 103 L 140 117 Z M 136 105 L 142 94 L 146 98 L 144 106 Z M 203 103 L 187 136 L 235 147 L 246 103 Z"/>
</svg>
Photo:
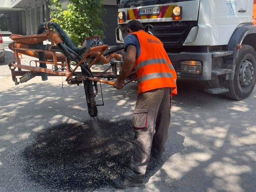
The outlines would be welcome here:
<svg viewBox="0 0 256 192">
<path fill-rule="evenodd" d="M 230 99 L 243 100 L 253 91 L 256 82 L 256 52 L 250 45 L 242 45 L 235 60 L 234 79 L 220 78 L 220 86 L 229 89 L 224 95 Z"/>
</svg>

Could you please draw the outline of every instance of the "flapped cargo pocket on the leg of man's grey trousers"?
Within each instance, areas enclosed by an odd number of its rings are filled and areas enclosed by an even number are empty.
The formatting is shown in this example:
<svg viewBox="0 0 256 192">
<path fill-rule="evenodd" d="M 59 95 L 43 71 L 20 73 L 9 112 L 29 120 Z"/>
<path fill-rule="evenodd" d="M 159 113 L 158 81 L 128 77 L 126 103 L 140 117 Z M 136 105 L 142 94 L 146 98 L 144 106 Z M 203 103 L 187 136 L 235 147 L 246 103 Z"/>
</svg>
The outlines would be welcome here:
<svg viewBox="0 0 256 192">
<path fill-rule="evenodd" d="M 134 129 L 145 129 L 148 123 L 148 108 L 135 108 L 132 126 Z"/>
</svg>

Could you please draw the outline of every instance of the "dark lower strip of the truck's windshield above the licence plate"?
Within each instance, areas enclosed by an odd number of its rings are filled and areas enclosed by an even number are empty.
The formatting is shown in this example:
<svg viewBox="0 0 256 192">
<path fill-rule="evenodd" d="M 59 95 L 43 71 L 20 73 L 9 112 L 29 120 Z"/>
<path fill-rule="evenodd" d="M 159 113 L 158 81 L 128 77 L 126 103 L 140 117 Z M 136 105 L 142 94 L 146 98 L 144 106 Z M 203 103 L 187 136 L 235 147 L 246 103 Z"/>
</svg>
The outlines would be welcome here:
<svg viewBox="0 0 256 192">
<path fill-rule="evenodd" d="M 194 1 L 194 0 L 121 0 L 119 8 L 134 7 L 134 6 L 146 6 L 157 5 L 165 3 L 177 3 L 182 1 Z"/>
</svg>

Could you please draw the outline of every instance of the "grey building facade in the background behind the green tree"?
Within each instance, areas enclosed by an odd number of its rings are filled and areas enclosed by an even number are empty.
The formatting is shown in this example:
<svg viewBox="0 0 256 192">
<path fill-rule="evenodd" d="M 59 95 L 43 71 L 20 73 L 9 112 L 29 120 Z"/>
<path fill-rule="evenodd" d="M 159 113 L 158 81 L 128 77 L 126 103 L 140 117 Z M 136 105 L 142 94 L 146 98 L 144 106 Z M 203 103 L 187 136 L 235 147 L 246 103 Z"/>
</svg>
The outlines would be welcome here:
<svg viewBox="0 0 256 192">
<path fill-rule="evenodd" d="M 49 0 L 1 0 L 0 4 L 0 29 L 2 34 L 34 35 L 37 26 L 42 22 L 50 21 Z M 65 9 L 68 0 L 62 0 Z M 117 12 L 116 0 L 104 1 L 106 16 L 102 20 L 107 24 L 104 31 L 104 42 L 116 45 Z"/>
</svg>

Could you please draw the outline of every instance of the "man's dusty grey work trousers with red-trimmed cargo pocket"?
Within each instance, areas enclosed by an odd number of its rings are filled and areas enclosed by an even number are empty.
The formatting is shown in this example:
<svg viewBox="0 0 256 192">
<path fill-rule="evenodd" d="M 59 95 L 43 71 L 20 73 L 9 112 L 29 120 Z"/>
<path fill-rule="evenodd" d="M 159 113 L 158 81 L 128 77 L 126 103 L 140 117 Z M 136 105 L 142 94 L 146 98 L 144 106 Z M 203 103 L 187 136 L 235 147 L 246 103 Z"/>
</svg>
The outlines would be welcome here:
<svg viewBox="0 0 256 192">
<path fill-rule="evenodd" d="M 171 120 L 170 87 L 138 94 L 133 116 L 134 150 L 124 177 L 143 183 L 151 148 L 161 156 Z"/>
</svg>

